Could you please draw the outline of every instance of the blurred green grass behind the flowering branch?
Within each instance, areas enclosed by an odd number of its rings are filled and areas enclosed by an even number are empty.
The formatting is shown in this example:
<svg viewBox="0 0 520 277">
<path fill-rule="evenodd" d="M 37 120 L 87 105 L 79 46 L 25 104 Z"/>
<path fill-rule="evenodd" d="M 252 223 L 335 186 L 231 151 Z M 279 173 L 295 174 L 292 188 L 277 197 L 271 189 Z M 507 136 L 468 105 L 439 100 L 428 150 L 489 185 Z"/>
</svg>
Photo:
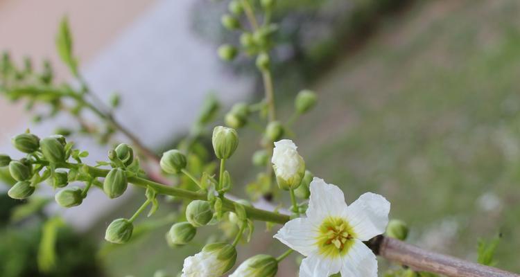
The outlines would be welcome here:
<svg viewBox="0 0 520 277">
<path fill-rule="evenodd" d="M 478 238 L 501 232 L 497 266 L 520 271 L 519 12 L 514 0 L 424 1 L 386 20 L 311 85 L 320 103 L 294 129 L 308 168 L 347 202 L 385 195 L 428 249 L 476 260 Z M 278 95 L 282 118 L 288 98 Z M 236 184 L 257 170 L 243 135 Z M 196 248 L 168 249 L 165 231 L 111 254 L 112 276 L 180 269 Z"/>
</svg>

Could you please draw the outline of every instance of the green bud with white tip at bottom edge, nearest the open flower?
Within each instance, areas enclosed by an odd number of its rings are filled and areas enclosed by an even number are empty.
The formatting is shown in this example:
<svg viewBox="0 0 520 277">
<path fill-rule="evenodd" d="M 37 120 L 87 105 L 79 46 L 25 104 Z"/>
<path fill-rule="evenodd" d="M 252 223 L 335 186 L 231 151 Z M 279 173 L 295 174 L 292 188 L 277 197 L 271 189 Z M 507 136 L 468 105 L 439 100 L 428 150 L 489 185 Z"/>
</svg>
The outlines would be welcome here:
<svg viewBox="0 0 520 277">
<path fill-rule="evenodd" d="M 278 271 L 278 261 L 269 255 L 252 256 L 229 275 L 229 277 L 273 277 Z"/>
</svg>

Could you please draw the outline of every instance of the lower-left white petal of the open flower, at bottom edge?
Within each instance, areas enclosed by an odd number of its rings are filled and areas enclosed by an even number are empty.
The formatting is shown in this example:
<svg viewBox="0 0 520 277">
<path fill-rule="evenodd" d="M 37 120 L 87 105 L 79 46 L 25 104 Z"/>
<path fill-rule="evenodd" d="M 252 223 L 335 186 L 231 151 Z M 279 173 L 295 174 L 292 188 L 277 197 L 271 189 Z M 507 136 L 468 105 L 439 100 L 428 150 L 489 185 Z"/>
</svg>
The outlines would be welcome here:
<svg viewBox="0 0 520 277">
<path fill-rule="evenodd" d="M 323 258 L 313 253 L 302 260 L 300 277 L 329 277 L 340 271 L 342 263 L 341 258 Z"/>
</svg>

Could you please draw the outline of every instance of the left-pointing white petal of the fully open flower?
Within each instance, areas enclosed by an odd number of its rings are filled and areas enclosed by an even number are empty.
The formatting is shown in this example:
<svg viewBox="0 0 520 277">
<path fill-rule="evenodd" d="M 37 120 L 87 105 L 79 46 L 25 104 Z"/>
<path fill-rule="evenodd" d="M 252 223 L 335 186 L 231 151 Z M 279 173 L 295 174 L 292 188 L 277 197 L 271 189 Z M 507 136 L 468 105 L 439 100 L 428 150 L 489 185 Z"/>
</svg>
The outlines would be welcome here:
<svg viewBox="0 0 520 277">
<path fill-rule="evenodd" d="M 287 222 L 278 233 L 274 235 L 281 243 L 309 256 L 313 251 L 318 249 L 316 243 L 316 229 L 306 218 L 297 218 Z"/>
</svg>

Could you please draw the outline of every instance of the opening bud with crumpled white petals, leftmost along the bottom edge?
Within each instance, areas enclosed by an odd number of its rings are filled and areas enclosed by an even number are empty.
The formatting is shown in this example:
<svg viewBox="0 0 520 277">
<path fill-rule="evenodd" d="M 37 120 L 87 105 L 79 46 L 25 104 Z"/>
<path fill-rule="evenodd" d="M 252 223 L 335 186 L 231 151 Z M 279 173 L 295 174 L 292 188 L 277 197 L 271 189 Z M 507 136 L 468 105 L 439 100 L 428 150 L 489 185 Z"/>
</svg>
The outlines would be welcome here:
<svg viewBox="0 0 520 277">
<path fill-rule="evenodd" d="M 182 276 L 217 277 L 225 274 L 236 262 L 236 249 L 232 244 L 207 244 L 202 251 L 184 260 Z"/>
</svg>

